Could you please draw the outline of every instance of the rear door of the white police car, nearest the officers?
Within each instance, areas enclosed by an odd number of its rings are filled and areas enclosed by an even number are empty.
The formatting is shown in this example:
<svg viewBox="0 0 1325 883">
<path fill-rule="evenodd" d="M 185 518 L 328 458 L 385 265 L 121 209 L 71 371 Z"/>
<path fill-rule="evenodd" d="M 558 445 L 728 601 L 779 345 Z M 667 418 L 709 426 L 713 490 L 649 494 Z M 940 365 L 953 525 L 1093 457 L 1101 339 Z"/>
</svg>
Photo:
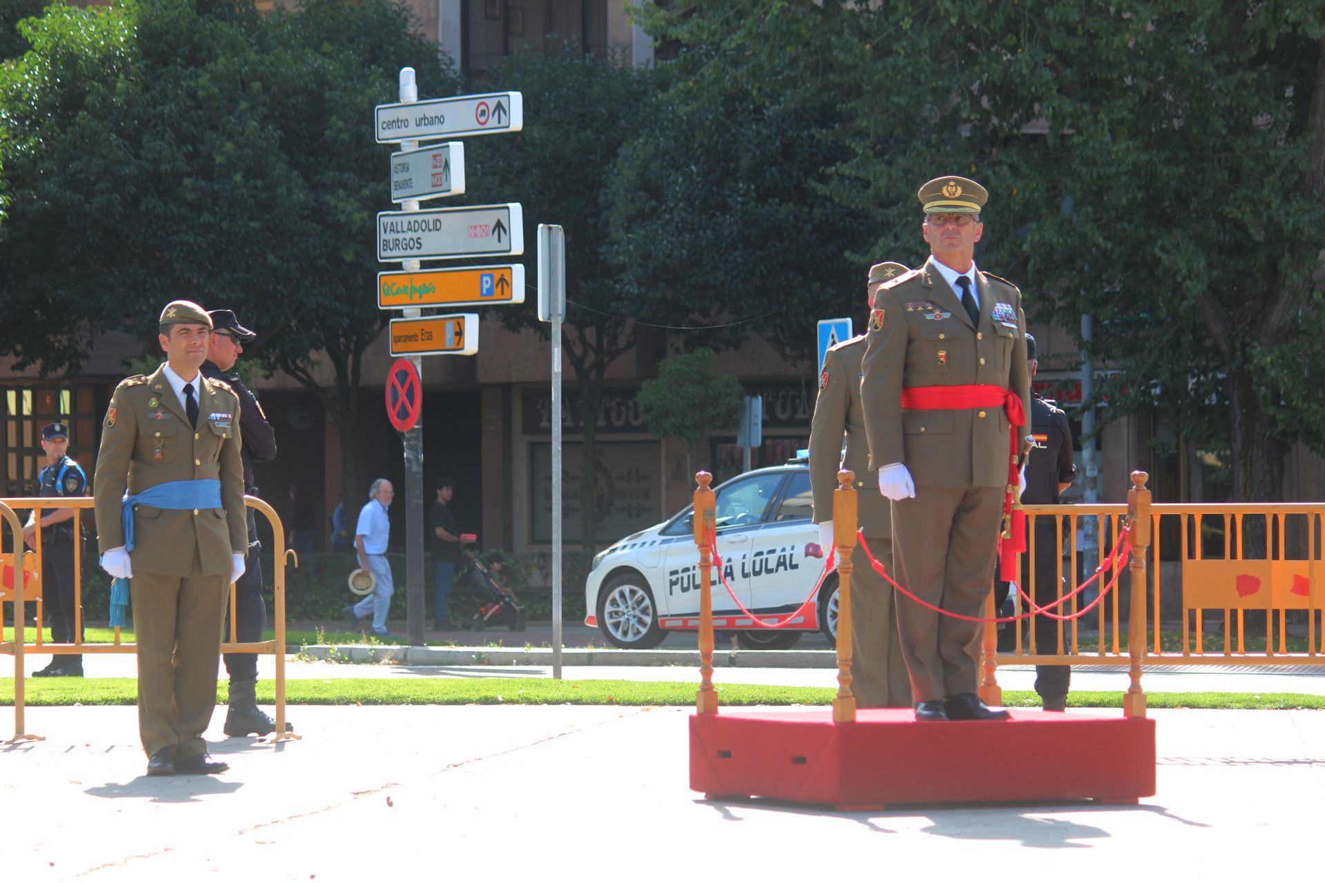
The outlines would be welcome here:
<svg viewBox="0 0 1325 883">
<path fill-rule="evenodd" d="M 810 557 L 811 544 L 819 543 L 819 528 L 811 520 L 810 471 L 790 474 L 778 503 L 754 536 L 750 552 L 750 610 L 780 618 L 796 610 L 815 588 L 824 559 Z M 788 626 L 808 625 L 812 616 Z"/>
</svg>

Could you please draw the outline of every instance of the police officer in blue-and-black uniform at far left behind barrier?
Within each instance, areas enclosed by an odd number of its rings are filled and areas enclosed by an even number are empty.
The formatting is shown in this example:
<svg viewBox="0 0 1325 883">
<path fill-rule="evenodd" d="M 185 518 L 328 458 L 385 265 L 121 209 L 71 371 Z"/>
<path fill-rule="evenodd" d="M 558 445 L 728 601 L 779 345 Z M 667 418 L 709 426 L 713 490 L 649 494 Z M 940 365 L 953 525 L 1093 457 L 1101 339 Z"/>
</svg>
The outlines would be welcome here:
<svg viewBox="0 0 1325 883">
<path fill-rule="evenodd" d="M 41 428 L 41 450 L 46 453 L 46 466 L 37 475 L 37 496 L 87 496 L 87 475 L 82 466 L 65 453 L 69 447 L 69 426 L 64 422 Z M 74 600 L 74 541 L 83 545 L 82 536 L 74 536 L 73 508 L 42 510 L 41 520 L 33 510 L 23 530 L 24 541 L 36 548 L 36 535 L 41 531 L 41 594 L 50 639 L 54 643 L 74 643 L 82 639 L 82 613 Z M 81 549 L 87 553 L 86 545 Z M 85 559 L 80 559 L 85 560 Z M 82 655 L 56 655 L 33 678 L 82 678 Z"/>
</svg>

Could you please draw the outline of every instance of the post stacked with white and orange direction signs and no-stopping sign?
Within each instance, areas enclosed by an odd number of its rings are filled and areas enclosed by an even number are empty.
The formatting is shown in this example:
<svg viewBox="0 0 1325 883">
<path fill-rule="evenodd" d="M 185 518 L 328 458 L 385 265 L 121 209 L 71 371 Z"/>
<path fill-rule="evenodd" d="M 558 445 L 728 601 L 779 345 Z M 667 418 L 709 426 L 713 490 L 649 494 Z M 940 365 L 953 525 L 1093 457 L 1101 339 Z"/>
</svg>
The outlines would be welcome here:
<svg viewBox="0 0 1325 883">
<path fill-rule="evenodd" d="M 417 380 L 421 356 L 478 352 L 477 314 L 424 316 L 421 307 L 523 303 L 525 267 L 423 270 L 420 261 L 523 254 L 525 218 L 518 203 L 420 210 L 420 200 L 465 192 L 465 148 L 458 142 L 420 148 L 419 140 L 518 132 L 525 124 L 525 105 L 518 91 L 420 102 L 413 68 L 400 69 L 399 98 L 396 105 L 378 105 L 372 116 L 379 144 L 400 143 L 400 151 L 391 156 L 391 201 L 399 203 L 400 210 L 378 214 L 376 238 L 378 259 L 399 261 L 401 269 L 378 274 L 378 307 L 400 310 L 404 315 L 391 320 L 391 355 L 403 356 L 416 375 L 411 387 L 392 369 L 387 406 L 404 442 L 408 638 L 409 643 L 421 645 L 423 383 Z M 394 388 L 398 379 L 404 385 Z"/>
</svg>

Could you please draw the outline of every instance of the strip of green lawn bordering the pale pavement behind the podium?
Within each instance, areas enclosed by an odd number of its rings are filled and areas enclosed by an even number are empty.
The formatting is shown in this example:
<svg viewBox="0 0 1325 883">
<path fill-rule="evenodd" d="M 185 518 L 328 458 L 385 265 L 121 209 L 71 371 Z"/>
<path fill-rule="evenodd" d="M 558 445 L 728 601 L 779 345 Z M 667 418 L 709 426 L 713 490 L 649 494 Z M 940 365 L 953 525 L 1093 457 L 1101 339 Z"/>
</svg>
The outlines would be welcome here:
<svg viewBox="0 0 1325 883">
<path fill-rule="evenodd" d="M 29 706 L 132 706 L 138 686 L 131 678 L 56 678 L 25 682 Z M 258 702 L 274 702 L 270 680 L 257 684 Z M 468 704 L 572 704 L 572 706 L 689 706 L 694 683 L 635 680 L 551 680 L 545 678 L 428 678 L 383 680 L 375 678 L 298 679 L 286 686 L 289 704 L 309 706 L 468 706 Z M 832 687 L 765 687 L 722 684 L 725 706 L 827 706 Z M 1325 710 L 1325 696 L 1300 694 L 1153 692 L 1151 708 Z M 225 700 L 224 684 L 217 702 Z M 1037 707 L 1030 691 L 1003 694 L 1010 707 Z M 1073 692 L 1069 704 L 1083 708 L 1121 708 L 1122 692 Z M 0 706 L 13 706 L 13 678 L 0 678 Z"/>
</svg>

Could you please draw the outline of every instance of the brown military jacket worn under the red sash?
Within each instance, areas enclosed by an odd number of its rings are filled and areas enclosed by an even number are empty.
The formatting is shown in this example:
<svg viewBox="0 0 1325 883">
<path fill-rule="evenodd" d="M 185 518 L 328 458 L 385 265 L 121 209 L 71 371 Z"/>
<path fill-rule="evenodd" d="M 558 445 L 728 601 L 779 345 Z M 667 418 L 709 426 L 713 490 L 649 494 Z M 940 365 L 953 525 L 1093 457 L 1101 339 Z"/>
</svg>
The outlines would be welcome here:
<svg viewBox="0 0 1325 883">
<path fill-rule="evenodd" d="M 977 270 L 978 326 L 931 257 L 874 295 L 861 373 L 869 466 L 905 463 L 917 486 L 1004 487 L 1008 420 L 1002 406 L 904 410 L 906 387 L 988 384 L 1031 413 L 1022 293 Z M 1024 433 L 1023 433 L 1024 434 Z"/>
</svg>

